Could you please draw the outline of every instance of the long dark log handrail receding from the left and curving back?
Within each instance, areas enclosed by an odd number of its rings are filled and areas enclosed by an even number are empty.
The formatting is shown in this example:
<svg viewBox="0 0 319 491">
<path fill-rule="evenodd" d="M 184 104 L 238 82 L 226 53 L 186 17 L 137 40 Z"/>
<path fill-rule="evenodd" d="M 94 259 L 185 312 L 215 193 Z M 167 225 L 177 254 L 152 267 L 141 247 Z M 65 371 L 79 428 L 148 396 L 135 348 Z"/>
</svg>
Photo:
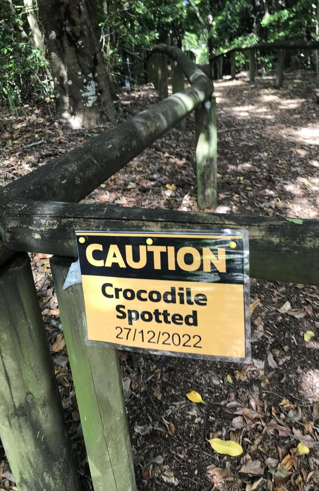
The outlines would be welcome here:
<svg viewBox="0 0 319 491">
<path fill-rule="evenodd" d="M 5 186 L 0 201 L 78 202 L 212 95 L 212 81 L 179 48 L 160 44 L 154 53 L 177 61 L 191 86 Z"/>
</svg>

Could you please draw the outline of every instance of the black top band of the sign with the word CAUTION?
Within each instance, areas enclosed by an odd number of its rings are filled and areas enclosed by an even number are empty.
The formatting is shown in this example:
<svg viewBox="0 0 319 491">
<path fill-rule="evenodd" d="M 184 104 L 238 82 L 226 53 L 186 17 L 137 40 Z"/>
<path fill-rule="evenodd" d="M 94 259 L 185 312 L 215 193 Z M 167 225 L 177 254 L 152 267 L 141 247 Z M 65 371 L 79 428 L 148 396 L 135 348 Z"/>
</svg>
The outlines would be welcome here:
<svg viewBox="0 0 319 491">
<path fill-rule="evenodd" d="M 86 235 L 78 250 L 82 274 L 204 283 L 244 281 L 242 237 L 219 238 L 212 244 L 210 238 L 192 236 Z"/>
</svg>

